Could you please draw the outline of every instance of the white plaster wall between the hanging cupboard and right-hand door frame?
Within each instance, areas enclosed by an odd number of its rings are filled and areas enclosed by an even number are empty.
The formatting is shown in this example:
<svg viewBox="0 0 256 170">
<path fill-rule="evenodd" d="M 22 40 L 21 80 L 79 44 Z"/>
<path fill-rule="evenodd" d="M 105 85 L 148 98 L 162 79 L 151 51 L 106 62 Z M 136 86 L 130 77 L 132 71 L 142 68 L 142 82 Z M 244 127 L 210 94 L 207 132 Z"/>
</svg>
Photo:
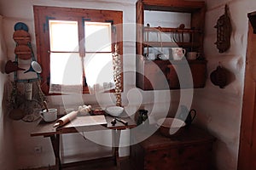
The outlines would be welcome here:
<svg viewBox="0 0 256 170">
<path fill-rule="evenodd" d="M 225 3 L 230 8 L 233 31 L 230 49 L 224 54 L 219 54 L 214 44 L 214 26 L 218 17 L 224 14 Z M 208 60 L 208 77 L 220 63 L 234 74 L 234 78 L 224 89 L 212 85 L 208 78 L 206 88 L 195 90 L 193 107 L 199 114 L 197 123 L 206 127 L 217 138 L 214 157 L 217 169 L 221 170 L 237 168 L 247 50 L 247 13 L 255 10 L 255 0 L 207 0 L 204 47 Z"/>
</svg>

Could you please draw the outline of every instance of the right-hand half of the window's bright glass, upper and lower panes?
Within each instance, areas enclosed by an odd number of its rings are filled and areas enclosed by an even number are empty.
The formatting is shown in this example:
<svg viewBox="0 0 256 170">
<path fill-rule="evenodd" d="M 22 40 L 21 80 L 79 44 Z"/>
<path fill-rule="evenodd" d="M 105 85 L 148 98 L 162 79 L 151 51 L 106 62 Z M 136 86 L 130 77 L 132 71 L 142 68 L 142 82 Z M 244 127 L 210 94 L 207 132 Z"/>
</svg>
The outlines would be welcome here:
<svg viewBox="0 0 256 170">
<path fill-rule="evenodd" d="M 102 85 L 104 82 L 113 82 L 111 23 L 84 22 L 84 26 L 84 70 L 87 84 L 93 87 L 94 84 Z"/>
</svg>

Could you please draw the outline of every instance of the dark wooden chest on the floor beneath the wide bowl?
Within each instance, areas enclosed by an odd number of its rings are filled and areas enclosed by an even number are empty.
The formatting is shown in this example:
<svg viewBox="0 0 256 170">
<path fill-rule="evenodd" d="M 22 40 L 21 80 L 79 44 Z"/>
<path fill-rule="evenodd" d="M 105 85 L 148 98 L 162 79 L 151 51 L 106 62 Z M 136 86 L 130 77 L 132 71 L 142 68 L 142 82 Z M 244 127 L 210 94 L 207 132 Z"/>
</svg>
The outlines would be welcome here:
<svg viewBox="0 0 256 170">
<path fill-rule="evenodd" d="M 174 139 L 156 132 L 131 146 L 131 163 L 137 170 L 209 170 L 212 169 L 213 141 L 212 135 L 193 126 L 186 127 L 182 135 Z"/>
</svg>

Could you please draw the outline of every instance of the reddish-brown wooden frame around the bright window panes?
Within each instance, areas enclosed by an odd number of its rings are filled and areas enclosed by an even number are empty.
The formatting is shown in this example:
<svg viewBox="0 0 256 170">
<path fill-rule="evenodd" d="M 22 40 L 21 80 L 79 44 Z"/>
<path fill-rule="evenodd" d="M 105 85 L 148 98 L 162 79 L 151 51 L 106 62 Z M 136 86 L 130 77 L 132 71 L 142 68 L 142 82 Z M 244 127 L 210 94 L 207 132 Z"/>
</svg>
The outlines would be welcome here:
<svg viewBox="0 0 256 170">
<path fill-rule="evenodd" d="M 123 71 L 123 12 L 114 10 L 101 9 L 86 9 L 86 8 L 62 8 L 62 7 L 48 7 L 48 6 L 33 6 L 34 11 L 34 25 L 36 33 L 37 44 L 37 59 L 42 66 L 41 73 L 41 88 L 46 95 L 49 94 L 49 19 L 56 18 L 57 20 L 78 20 L 79 32 L 84 32 L 83 21 L 90 20 L 93 22 L 107 22 L 111 21 L 115 28 L 115 36 L 112 35 L 112 51 L 114 52 L 114 45 L 119 47 L 119 54 L 121 56 L 121 68 Z M 84 33 L 79 34 L 79 39 L 84 38 Z M 79 42 L 79 48 L 84 51 L 84 44 Z M 84 51 L 85 53 L 85 51 Z M 123 91 L 123 73 L 121 74 L 122 91 Z M 110 92 L 114 92 L 111 90 Z M 88 87 L 83 88 L 83 94 L 89 94 Z M 54 94 L 55 95 L 55 94 Z"/>
</svg>

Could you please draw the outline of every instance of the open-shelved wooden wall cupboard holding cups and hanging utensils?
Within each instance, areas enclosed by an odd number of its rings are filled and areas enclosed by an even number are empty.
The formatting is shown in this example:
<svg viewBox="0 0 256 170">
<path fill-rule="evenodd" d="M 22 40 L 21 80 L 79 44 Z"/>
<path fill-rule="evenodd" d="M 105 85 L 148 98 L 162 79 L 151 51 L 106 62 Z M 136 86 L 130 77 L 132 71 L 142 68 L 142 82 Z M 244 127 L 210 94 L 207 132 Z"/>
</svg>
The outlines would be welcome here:
<svg viewBox="0 0 256 170">
<path fill-rule="evenodd" d="M 150 27 L 144 23 L 145 11 L 164 11 L 180 14 L 189 14 L 189 28 L 177 27 Z M 203 32 L 205 20 L 205 3 L 201 1 L 189 2 L 181 0 L 139 0 L 137 2 L 137 88 L 143 90 L 203 88 L 207 79 L 207 61 L 203 55 Z M 159 19 L 160 22 L 161 19 Z M 170 35 L 170 42 L 149 40 L 148 32 L 165 32 Z M 178 35 L 178 41 L 173 36 Z M 189 40 L 184 41 L 184 36 Z M 148 48 L 185 48 L 186 51 L 196 51 L 201 54 L 196 60 L 172 60 L 147 58 Z M 171 53 L 169 54 L 171 57 Z M 180 68 L 189 65 L 192 74 L 192 83 L 181 84 L 177 80 Z M 188 66 L 187 66 L 188 67 Z M 183 71 L 184 72 L 184 71 Z M 186 71 L 188 72 L 188 71 Z M 182 77 L 183 74 L 181 74 Z"/>
</svg>

